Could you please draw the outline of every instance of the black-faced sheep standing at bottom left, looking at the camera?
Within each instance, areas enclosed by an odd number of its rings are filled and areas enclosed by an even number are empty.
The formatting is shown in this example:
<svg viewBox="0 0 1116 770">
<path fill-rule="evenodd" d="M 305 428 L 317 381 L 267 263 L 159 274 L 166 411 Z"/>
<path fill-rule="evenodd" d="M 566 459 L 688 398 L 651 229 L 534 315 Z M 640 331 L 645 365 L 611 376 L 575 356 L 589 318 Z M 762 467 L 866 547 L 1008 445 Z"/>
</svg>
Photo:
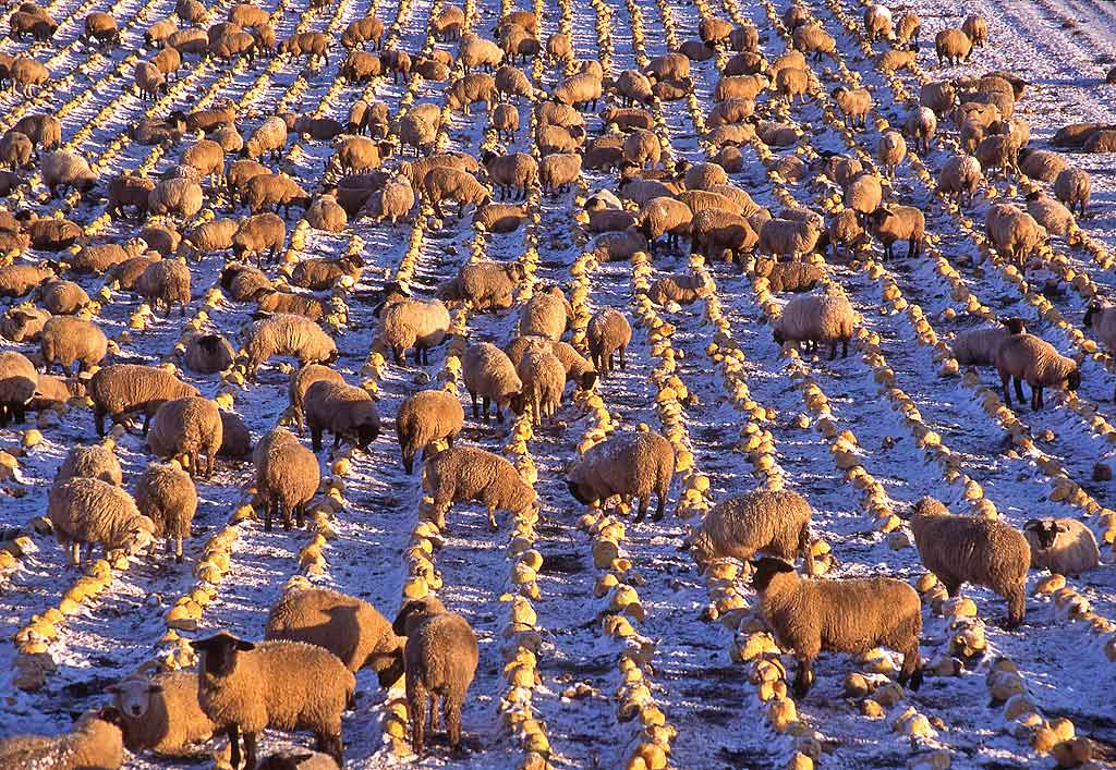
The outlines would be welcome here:
<svg viewBox="0 0 1116 770">
<path fill-rule="evenodd" d="M 232 767 L 240 767 L 241 732 L 244 767 L 256 767 L 256 735 L 269 726 L 310 730 L 318 748 L 344 763 L 341 712 L 356 678 L 336 655 L 301 642 L 253 644 L 225 632 L 190 644 L 201 653 L 199 703 L 228 733 Z"/>
</svg>

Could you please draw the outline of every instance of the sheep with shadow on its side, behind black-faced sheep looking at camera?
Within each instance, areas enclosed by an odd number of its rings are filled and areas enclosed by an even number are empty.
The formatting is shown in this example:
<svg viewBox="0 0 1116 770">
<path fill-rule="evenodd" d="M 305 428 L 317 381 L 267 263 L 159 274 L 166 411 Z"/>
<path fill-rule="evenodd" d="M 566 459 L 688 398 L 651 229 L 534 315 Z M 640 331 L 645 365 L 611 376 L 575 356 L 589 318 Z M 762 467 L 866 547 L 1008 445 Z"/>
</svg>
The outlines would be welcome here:
<svg viewBox="0 0 1116 770">
<path fill-rule="evenodd" d="M 403 675 L 404 641 L 367 601 L 325 588 L 288 590 L 268 613 L 263 638 L 328 649 L 356 674 L 367 666 L 383 687 Z"/>
</svg>

